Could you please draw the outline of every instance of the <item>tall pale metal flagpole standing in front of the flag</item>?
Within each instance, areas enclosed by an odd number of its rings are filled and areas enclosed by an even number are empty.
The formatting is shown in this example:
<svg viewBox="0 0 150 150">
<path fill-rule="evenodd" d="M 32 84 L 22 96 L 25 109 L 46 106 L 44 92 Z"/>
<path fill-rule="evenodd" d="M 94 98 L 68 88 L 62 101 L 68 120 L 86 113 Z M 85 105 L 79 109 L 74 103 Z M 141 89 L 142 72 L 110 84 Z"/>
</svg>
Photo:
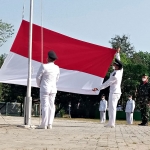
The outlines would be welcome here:
<svg viewBox="0 0 150 150">
<path fill-rule="evenodd" d="M 33 0 L 30 0 L 30 26 L 29 26 L 29 51 L 28 51 L 28 79 L 27 79 L 27 95 L 25 98 L 25 119 L 24 124 L 31 125 L 31 74 L 32 74 L 32 20 L 33 20 Z"/>
</svg>

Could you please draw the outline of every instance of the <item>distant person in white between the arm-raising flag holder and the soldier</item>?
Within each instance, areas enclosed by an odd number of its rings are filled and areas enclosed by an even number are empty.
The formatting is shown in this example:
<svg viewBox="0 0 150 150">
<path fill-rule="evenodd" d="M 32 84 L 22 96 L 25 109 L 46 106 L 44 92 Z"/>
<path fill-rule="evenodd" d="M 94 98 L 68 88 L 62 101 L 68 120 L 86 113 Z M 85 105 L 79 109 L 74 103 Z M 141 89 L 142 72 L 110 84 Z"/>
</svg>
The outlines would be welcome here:
<svg viewBox="0 0 150 150">
<path fill-rule="evenodd" d="M 128 124 L 133 124 L 133 112 L 135 109 L 135 101 L 132 100 L 132 95 L 128 96 L 128 101 L 126 103 L 126 120 Z"/>
</svg>

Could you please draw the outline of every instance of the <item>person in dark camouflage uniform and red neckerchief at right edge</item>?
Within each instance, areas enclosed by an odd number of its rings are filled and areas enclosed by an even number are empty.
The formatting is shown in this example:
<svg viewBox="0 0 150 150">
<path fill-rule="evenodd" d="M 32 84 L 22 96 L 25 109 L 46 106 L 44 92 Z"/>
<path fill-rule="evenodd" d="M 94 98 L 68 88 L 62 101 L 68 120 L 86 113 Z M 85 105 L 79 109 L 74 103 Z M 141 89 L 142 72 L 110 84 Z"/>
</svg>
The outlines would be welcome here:
<svg viewBox="0 0 150 150">
<path fill-rule="evenodd" d="M 148 74 L 142 75 L 142 82 L 137 89 L 137 102 L 141 111 L 141 126 L 148 126 L 149 121 L 149 104 L 150 104 L 150 83 Z"/>
</svg>

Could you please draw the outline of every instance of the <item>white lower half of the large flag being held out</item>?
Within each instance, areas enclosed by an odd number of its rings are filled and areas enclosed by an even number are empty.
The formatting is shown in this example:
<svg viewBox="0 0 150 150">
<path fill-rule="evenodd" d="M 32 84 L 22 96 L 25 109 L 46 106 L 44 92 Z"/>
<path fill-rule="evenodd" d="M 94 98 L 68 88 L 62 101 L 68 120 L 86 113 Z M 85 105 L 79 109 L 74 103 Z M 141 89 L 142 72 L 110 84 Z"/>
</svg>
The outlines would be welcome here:
<svg viewBox="0 0 150 150">
<path fill-rule="evenodd" d="M 36 75 L 41 66 L 40 62 L 32 60 L 32 87 L 37 87 Z M 10 52 L 0 69 L 0 82 L 27 85 L 28 78 L 28 58 Z M 103 82 L 103 78 L 75 70 L 60 68 L 60 79 L 57 82 L 59 91 L 72 93 L 98 95 L 91 89 L 98 87 Z"/>
</svg>

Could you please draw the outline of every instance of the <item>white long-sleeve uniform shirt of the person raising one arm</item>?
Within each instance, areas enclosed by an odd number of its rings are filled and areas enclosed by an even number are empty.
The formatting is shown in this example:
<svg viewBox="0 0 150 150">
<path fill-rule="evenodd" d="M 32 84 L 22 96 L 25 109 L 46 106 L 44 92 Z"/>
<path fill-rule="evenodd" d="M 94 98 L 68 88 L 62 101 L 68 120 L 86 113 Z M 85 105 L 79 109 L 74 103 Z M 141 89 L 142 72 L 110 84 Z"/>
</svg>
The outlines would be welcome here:
<svg viewBox="0 0 150 150">
<path fill-rule="evenodd" d="M 120 54 L 116 53 L 116 58 L 120 60 Z M 114 70 L 109 79 L 100 86 L 100 90 L 110 86 L 110 93 L 121 94 L 121 81 L 123 75 L 123 68 L 121 70 Z"/>
</svg>

